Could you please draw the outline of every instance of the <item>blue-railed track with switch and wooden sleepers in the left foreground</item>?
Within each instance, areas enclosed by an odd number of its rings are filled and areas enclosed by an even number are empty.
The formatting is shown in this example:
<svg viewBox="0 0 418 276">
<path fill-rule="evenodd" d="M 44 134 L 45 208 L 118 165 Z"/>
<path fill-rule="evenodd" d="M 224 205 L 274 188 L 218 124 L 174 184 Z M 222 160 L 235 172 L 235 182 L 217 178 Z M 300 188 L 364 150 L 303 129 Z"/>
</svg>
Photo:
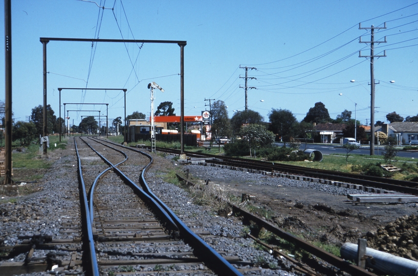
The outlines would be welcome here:
<svg viewBox="0 0 418 276">
<path fill-rule="evenodd" d="M 61 270 L 86 275 L 241 275 L 194 233 L 209 235 L 199 223 L 189 222 L 194 223 L 192 232 L 149 190 L 144 178 L 152 163 L 149 155 L 125 148 L 127 154 L 85 137 L 74 143 L 80 205 L 63 216 L 60 233 L 67 238 L 18 236 L 20 244 L 0 247 L 6 260 L 0 265 L 2 275 Z"/>
</svg>

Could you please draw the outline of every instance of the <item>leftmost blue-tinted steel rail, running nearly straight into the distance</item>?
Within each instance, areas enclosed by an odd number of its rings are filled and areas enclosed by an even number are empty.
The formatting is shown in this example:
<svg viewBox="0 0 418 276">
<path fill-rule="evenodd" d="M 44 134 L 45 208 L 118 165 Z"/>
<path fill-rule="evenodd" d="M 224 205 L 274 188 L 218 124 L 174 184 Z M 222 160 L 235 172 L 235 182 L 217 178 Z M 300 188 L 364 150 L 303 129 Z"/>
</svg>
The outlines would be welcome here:
<svg viewBox="0 0 418 276">
<path fill-rule="evenodd" d="M 83 247 L 89 251 L 89 258 L 90 258 L 90 262 L 89 262 L 90 271 L 88 274 L 92 276 L 99 276 L 99 267 L 97 263 L 96 249 L 94 247 L 94 239 L 93 239 L 93 227 L 90 222 L 89 205 L 87 203 L 87 195 L 85 192 L 84 179 L 83 179 L 83 174 L 81 170 L 81 159 L 78 153 L 77 142 L 76 142 L 75 137 L 74 137 L 74 145 L 75 145 L 76 154 L 77 154 L 77 174 L 78 174 L 78 182 L 80 186 L 79 190 L 81 190 L 80 193 L 82 193 L 82 198 L 80 198 L 80 205 L 81 205 L 81 210 L 82 210 L 81 216 L 83 217 L 83 222 L 86 226 L 86 227 L 83 227 L 83 232 L 87 231 L 87 233 L 85 233 L 87 235 L 83 237 L 83 240 L 84 240 Z M 85 242 L 87 242 L 88 245 L 85 245 Z M 83 254 L 83 257 L 86 257 L 86 256 L 84 256 Z"/>
</svg>

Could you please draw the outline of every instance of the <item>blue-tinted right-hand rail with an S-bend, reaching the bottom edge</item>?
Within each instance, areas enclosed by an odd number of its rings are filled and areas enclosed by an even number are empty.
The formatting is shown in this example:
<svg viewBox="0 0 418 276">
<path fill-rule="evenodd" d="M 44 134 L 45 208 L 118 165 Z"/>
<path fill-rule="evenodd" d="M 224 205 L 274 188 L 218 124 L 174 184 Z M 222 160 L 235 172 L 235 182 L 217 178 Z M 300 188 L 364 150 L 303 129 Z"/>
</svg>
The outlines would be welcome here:
<svg viewBox="0 0 418 276">
<path fill-rule="evenodd" d="M 114 144 L 112 142 L 107 142 L 107 143 Z M 129 147 L 124 147 L 122 145 L 117 145 L 117 146 L 129 149 L 131 151 L 138 152 L 150 158 L 151 162 L 142 170 L 142 173 L 141 173 L 141 177 L 140 177 L 141 186 L 143 190 L 147 194 L 149 194 L 149 196 L 151 196 L 153 199 L 159 202 L 162 208 L 164 208 L 164 210 L 175 221 L 175 224 L 177 225 L 180 231 L 180 237 L 183 238 L 183 240 L 194 249 L 193 253 L 198 258 L 202 259 L 203 262 L 218 275 L 226 275 L 226 276 L 242 275 L 241 272 L 239 272 L 227 260 L 225 260 L 224 257 L 219 255 L 218 252 L 216 252 L 212 247 L 210 247 L 203 239 L 201 239 L 199 236 L 194 234 L 190 230 L 190 228 L 187 227 L 187 225 L 184 224 L 183 221 L 177 215 L 175 215 L 174 212 L 172 212 L 171 209 L 168 208 L 168 206 L 160 198 L 158 198 L 155 194 L 151 192 L 151 189 L 149 189 L 148 184 L 145 180 L 145 172 L 149 169 L 149 167 L 151 166 L 153 162 L 152 156 L 140 150 L 136 150 L 136 149 L 129 148 Z"/>
</svg>

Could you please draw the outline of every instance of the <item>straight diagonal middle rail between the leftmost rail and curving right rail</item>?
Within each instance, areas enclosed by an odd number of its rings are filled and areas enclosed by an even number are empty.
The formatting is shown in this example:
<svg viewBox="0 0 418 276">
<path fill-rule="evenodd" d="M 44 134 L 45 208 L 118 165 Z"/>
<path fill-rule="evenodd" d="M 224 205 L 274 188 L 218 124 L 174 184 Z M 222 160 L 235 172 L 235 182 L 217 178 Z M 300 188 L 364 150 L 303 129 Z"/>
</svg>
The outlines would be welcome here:
<svg viewBox="0 0 418 276">
<path fill-rule="evenodd" d="M 154 212 L 154 214 L 162 221 L 162 224 L 173 234 L 173 232 L 175 231 L 179 231 L 179 228 L 177 227 L 177 225 L 175 224 L 175 222 L 171 219 L 171 217 L 167 214 L 167 212 L 161 208 L 160 204 L 158 203 L 157 200 L 153 199 L 152 197 L 150 197 L 147 193 L 145 193 L 141 188 L 139 188 L 136 183 L 132 180 L 130 180 L 129 177 L 127 177 L 122 171 L 120 171 L 115 165 L 113 165 L 111 162 L 109 162 L 109 160 L 107 160 L 103 155 L 101 155 L 98 151 L 96 151 L 89 143 L 87 143 L 86 141 L 82 140 L 87 146 L 89 146 L 94 152 L 96 152 L 97 155 L 100 156 L 100 158 L 102 158 L 102 160 L 109 166 L 111 166 L 111 169 L 114 170 L 114 172 L 116 174 L 119 175 L 119 177 L 122 178 L 122 180 L 127 183 L 128 186 L 130 186 L 131 188 L 134 189 L 135 193 L 141 198 L 141 200 L 143 200 L 144 202 L 146 202 L 150 208 L 152 209 L 152 211 Z M 100 143 L 102 144 L 102 143 Z M 103 144 L 104 145 L 104 144 Z M 109 147 L 109 146 L 107 146 Z M 109 147 L 114 149 L 113 147 Z M 117 150 L 117 149 L 114 149 Z M 118 150 L 117 150 L 118 151 Z M 149 165 L 149 164 L 148 164 Z M 93 200 L 92 200 L 93 202 Z"/>
</svg>

